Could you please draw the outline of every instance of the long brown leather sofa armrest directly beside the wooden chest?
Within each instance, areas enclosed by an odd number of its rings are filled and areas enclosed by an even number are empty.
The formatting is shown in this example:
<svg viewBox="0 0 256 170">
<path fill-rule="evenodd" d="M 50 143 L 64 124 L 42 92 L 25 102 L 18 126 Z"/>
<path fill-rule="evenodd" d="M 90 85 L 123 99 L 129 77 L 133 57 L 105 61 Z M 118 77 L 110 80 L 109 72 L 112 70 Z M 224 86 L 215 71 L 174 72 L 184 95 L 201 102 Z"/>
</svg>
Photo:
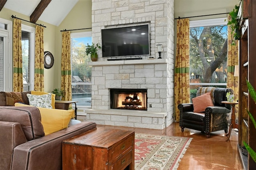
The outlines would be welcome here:
<svg viewBox="0 0 256 170">
<path fill-rule="evenodd" d="M 17 146 L 12 156 L 12 169 L 62 169 L 62 141 L 95 127 L 96 123 L 82 122 Z"/>
</svg>

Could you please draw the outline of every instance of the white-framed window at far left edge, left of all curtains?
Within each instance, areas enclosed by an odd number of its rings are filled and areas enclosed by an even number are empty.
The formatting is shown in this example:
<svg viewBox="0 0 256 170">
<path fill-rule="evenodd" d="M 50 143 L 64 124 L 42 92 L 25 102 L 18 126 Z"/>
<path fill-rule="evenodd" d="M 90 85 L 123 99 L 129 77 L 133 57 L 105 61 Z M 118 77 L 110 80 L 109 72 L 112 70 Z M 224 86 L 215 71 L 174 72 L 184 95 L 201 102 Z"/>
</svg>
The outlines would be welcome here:
<svg viewBox="0 0 256 170">
<path fill-rule="evenodd" d="M 12 91 L 12 22 L 0 18 L 0 91 Z"/>
</svg>

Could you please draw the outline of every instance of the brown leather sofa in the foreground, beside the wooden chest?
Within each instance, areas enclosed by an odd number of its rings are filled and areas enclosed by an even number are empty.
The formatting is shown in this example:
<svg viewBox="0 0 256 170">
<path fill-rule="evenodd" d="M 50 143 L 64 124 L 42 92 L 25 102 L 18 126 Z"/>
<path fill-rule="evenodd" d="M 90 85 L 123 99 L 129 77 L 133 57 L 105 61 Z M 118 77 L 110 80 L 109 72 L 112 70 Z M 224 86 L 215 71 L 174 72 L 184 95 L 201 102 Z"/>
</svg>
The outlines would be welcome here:
<svg viewBox="0 0 256 170">
<path fill-rule="evenodd" d="M 82 122 L 44 136 L 36 107 L 0 106 L 0 170 L 61 170 L 62 141 L 95 127 Z"/>
</svg>

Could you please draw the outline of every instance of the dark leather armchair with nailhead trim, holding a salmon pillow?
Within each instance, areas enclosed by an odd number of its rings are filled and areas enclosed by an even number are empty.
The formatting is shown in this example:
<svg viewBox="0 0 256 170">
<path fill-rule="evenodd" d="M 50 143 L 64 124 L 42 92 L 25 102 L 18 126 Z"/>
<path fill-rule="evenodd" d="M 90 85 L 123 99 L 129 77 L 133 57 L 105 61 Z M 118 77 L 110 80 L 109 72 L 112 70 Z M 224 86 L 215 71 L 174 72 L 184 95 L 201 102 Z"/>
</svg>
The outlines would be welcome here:
<svg viewBox="0 0 256 170">
<path fill-rule="evenodd" d="M 204 112 L 194 112 L 193 103 L 182 103 L 178 105 L 182 132 L 184 128 L 199 130 L 206 133 L 207 138 L 214 131 L 224 130 L 225 133 L 228 132 L 228 116 L 232 106 L 221 102 L 227 101 L 227 92 L 233 94 L 234 91 L 228 88 L 199 87 L 197 96 L 209 91 L 213 97 L 214 106 L 206 107 Z"/>
</svg>

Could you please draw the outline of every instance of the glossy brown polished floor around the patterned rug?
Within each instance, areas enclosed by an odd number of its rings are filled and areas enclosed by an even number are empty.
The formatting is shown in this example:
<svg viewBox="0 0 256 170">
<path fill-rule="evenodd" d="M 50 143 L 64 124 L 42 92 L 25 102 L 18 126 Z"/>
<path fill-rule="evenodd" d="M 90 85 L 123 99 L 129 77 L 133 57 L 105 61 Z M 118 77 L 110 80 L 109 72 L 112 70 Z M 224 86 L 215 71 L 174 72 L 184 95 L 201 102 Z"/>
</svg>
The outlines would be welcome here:
<svg viewBox="0 0 256 170">
<path fill-rule="evenodd" d="M 160 134 L 167 136 L 185 136 L 193 138 L 184 154 L 178 170 L 242 170 L 237 144 L 238 132 L 234 129 L 230 140 L 226 142 L 224 130 L 213 132 L 210 138 L 197 130 L 185 128 L 181 132 L 178 123 L 172 123 L 164 130 L 145 128 L 112 127 L 97 125 L 98 127 L 122 128 L 134 130 L 137 133 Z"/>
</svg>

